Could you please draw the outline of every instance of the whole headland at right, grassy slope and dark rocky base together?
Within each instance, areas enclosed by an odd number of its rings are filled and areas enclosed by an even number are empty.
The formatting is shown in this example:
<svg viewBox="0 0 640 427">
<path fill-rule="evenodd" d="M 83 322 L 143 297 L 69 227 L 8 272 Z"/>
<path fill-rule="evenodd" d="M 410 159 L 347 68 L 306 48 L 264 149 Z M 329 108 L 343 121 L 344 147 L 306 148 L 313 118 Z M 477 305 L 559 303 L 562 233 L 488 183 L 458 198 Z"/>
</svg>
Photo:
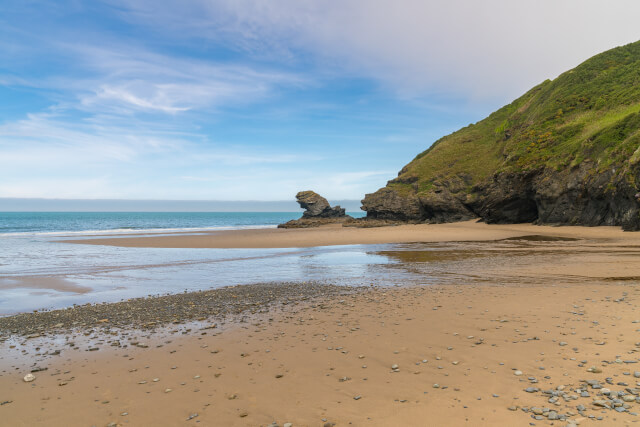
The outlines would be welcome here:
<svg viewBox="0 0 640 427">
<path fill-rule="evenodd" d="M 597 55 L 419 154 L 367 218 L 640 230 L 640 42 Z"/>
</svg>

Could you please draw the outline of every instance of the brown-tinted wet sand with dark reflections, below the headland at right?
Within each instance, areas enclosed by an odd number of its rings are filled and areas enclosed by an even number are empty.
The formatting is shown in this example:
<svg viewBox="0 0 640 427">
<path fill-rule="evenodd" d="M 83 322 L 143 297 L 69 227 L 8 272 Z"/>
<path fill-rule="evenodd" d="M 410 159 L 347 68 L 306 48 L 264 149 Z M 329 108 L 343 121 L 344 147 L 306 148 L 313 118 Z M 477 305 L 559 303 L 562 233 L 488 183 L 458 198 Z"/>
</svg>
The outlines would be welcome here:
<svg viewBox="0 0 640 427">
<path fill-rule="evenodd" d="M 418 283 L 640 281 L 640 247 L 598 240 L 522 236 L 498 241 L 415 243 L 374 252 Z"/>
</svg>

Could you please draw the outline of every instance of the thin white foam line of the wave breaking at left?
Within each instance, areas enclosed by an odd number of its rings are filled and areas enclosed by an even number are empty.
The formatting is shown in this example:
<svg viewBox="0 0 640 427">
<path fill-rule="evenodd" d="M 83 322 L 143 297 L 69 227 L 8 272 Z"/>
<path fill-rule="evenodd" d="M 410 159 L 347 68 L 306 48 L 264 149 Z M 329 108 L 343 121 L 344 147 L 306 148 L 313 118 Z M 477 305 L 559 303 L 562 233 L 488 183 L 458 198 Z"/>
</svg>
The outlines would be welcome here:
<svg viewBox="0 0 640 427">
<path fill-rule="evenodd" d="M 30 237 L 30 236 L 85 236 L 85 235 L 119 235 L 119 234 L 156 234 L 156 233 L 197 233 L 203 231 L 224 231 L 224 230 L 253 230 L 276 228 L 276 224 L 262 225 L 228 225 L 216 227 L 193 227 L 193 228 L 116 228 L 110 230 L 80 230 L 80 231 L 21 231 L 12 233 L 0 233 L 0 237 Z"/>
</svg>

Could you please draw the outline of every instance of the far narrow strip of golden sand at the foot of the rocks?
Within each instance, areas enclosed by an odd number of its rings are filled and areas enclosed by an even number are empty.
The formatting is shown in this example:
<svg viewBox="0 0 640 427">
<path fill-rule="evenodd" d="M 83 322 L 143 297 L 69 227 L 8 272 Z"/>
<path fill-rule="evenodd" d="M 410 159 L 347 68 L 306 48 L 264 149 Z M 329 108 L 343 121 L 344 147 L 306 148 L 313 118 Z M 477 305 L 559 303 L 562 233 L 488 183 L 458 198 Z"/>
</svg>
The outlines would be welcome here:
<svg viewBox="0 0 640 427">
<path fill-rule="evenodd" d="M 551 227 L 531 224 L 487 225 L 476 221 L 453 224 L 411 224 L 355 228 L 328 225 L 305 229 L 225 230 L 137 237 L 70 239 L 69 243 L 139 248 L 304 248 L 381 243 L 457 242 L 507 239 L 526 235 L 631 240 L 638 233 L 619 227 Z"/>
</svg>

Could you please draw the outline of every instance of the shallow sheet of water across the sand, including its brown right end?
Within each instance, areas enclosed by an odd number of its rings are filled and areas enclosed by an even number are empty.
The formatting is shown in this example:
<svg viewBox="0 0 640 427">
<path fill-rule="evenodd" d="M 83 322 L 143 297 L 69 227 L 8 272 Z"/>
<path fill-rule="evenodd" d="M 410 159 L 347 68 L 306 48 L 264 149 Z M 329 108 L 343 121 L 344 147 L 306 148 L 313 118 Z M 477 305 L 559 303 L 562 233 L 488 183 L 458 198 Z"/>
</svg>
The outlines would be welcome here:
<svg viewBox="0 0 640 427">
<path fill-rule="evenodd" d="M 34 235 L 0 239 L 0 254 L 4 254 L 0 314 L 260 282 L 318 281 L 354 286 L 487 280 L 520 283 L 526 281 L 526 275 L 498 273 L 506 266 L 545 262 L 573 244 L 526 236 L 498 242 L 171 249 L 59 241 L 65 238 Z"/>
</svg>

